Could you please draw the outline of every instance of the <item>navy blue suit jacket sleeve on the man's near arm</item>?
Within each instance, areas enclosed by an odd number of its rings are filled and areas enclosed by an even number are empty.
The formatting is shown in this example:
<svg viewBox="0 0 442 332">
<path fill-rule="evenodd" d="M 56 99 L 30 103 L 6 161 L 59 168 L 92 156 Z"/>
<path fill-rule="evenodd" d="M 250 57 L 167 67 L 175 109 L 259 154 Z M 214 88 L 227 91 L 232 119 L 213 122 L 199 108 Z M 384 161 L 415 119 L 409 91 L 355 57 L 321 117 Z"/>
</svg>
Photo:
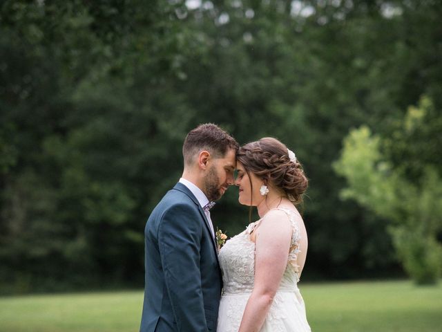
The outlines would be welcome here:
<svg viewBox="0 0 442 332">
<path fill-rule="evenodd" d="M 201 216 L 191 205 L 173 205 L 158 228 L 160 256 L 178 331 L 207 331 L 201 289 Z"/>
</svg>

